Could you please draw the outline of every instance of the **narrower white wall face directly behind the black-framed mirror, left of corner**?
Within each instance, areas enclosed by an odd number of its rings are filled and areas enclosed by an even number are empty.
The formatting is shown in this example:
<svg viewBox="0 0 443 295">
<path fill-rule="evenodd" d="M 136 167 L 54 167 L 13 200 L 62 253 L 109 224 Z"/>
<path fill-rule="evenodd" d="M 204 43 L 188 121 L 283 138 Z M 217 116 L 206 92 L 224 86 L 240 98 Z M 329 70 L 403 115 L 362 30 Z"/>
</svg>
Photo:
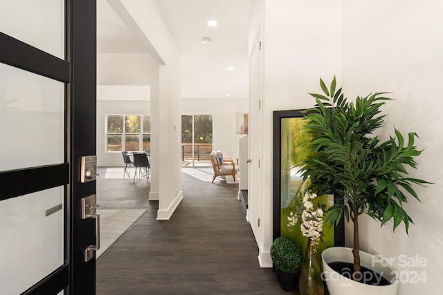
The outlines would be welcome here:
<svg viewBox="0 0 443 295">
<path fill-rule="evenodd" d="M 338 0 L 264 1 L 262 180 L 254 181 L 262 189 L 261 236 L 257 238 L 259 260 L 267 262 L 262 267 L 271 267 L 273 111 L 312 106 L 307 93 L 318 90 L 320 76 L 341 77 L 341 15 Z"/>
</svg>

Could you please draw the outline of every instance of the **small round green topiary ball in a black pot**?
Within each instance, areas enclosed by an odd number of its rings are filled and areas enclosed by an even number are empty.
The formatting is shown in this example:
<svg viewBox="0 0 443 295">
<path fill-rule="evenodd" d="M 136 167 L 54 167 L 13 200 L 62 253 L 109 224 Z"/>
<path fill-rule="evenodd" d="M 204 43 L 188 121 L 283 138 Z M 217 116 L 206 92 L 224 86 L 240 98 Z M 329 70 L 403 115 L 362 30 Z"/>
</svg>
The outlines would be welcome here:
<svg viewBox="0 0 443 295">
<path fill-rule="evenodd" d="M 300 245 L 291 238 L 278 237 L 271 245 L 271 258 L 280 287 L 288 292 L 295 290 L 303 261 Z"/>
</svg>

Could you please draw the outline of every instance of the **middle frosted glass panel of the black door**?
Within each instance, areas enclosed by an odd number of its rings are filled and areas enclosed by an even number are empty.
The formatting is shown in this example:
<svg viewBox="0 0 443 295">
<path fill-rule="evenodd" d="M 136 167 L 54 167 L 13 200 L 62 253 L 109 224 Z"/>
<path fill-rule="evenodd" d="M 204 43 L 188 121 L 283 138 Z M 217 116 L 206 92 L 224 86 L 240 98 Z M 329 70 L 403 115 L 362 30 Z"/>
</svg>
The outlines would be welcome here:
<svg viewBox="0 0 443 295">
<path fill-rule="evenodd" d="M 64 162 L 64 83 L 0 64 L 0 171 Z"/>
</svg>

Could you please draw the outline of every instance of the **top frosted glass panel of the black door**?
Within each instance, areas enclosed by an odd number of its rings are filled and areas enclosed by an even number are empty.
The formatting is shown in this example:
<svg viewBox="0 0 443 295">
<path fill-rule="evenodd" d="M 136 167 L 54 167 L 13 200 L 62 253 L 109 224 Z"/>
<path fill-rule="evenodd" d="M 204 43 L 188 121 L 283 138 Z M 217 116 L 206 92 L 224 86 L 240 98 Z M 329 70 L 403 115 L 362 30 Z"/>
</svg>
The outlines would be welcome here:
<svg viewBox="0 0 443 295">
<path fill-rule="evenodd" d="M 64 59 L 64 0 L 1 0 L 0 32 Z"/>
</svg>

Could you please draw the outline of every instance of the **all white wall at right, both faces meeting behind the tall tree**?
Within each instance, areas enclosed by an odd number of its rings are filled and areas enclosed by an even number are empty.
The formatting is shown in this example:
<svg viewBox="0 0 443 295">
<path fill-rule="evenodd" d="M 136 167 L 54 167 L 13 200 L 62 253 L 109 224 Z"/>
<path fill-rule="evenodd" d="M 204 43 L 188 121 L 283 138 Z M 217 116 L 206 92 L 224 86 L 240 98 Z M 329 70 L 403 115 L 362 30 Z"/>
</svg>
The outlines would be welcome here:
<svg viewBox="0 0 443 295">
<path fill-rule="evenodd" d="M 392 91 L 395 100 L 385 108 L 388 124 L 381 135 L 392 134 L 393 126 L 419 135 L 415 143 L 424 152 L 418 169 L 410 173 L 434 183 L 417 187 L 422 203 L 405 204 L 415 225 L 410 225 L 407 236 L 403 225 L 393 233 L 392 225 L 380 229 L 379 223 L 364 217 L 361 247 L 395 258 L 393 267 L 403 271 L 403 280 L 413 278 L 415 272 L 426 275 L 426 283 L 401 283 L 398 294 L 435 294 L 441 289 L 443 266 L 443 140 L 439 136 L 443 2 L 266 0 L 260 21 L 264 23 L 262 201 L 269 211 L 262 212 L 264 242 L 259 247 L 269 249 L 272 238 L 271 113 L 312 106 L 307 93 L 318 91 L 318 78 L 329 82 L 336 75 L 350 98 Z M 350 231 L 346 234 L 350 245 Z M 425 258 L 426 267 L 400 267 L 402 254 Z"/>
</svg>

